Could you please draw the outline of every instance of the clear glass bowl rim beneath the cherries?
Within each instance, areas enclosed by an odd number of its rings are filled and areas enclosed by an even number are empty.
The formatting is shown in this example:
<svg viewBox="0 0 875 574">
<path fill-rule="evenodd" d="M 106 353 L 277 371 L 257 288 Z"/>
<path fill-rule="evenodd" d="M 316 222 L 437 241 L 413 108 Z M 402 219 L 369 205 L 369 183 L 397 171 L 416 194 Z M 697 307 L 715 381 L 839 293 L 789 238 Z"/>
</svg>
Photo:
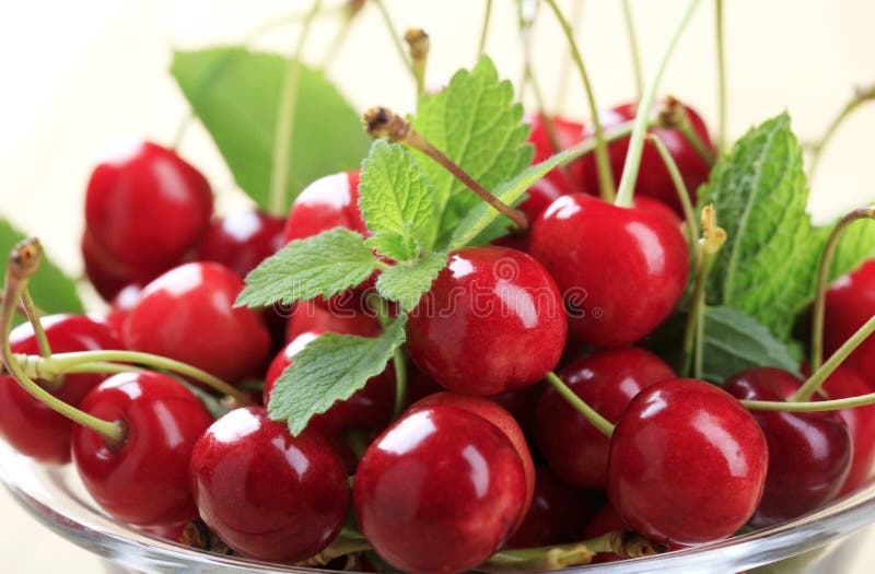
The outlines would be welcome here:
<svg viewBox="0 0 875 574">
<path fill-rule="evenodd" d="M 40 523 L 103 557 L 113 572 L 272 574 L 320 572 L 210 554 L 161 540 L 114 520 L 84 491 L 73 468 L 49 467 L 23 457 L 0 441 L 0 480 Z M 854 532 L 875 522 L 875 480 L 829 506 L 772 528 L 695 549 L 652 558 L 568 569 L 619 574 L 667 572 L 840 572 L 853 550 Z M 860 532 L 862 536 L 867 532 Z"/>
</svg>

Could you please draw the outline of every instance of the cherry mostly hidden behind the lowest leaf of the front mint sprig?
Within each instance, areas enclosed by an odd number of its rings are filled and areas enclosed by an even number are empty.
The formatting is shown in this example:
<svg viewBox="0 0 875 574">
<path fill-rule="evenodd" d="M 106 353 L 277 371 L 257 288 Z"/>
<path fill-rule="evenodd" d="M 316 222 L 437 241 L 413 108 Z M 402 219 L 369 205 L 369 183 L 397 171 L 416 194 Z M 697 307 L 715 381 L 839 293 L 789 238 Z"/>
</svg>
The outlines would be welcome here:
<svg viewBox="0 0 875 574">
<path fill-rule="evenodd" d="M 277 379 L 294 362 L 294 355 L 320 335 L 320 331 L 303 332 L 277 354 L 265 378 L 265 405 L 269 405 Z M 307 430 L 316 431 L 329 441 L 339 441 L 340 434 L 350 429 L 364 429 L 373 436 L 392 422 L 394 406 L 395 371 L 389 365 L 350 398 L 337 401 L 326 412 L 313 417 Z"/>
</svg>

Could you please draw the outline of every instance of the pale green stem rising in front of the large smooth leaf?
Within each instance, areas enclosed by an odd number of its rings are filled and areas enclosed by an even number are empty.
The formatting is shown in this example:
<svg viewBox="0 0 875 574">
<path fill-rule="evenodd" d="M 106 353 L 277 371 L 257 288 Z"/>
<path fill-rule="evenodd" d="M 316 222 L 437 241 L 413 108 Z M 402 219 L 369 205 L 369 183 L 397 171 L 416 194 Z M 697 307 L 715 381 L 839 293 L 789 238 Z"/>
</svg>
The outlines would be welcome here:
<svg viewBox="0 0 875 574">
<path fill-rule="evenodd" d="M 304 23 L 301 25 L 301 34 L 298 38 L 298 46 L 285 61 L 285 73 L 282 78 L 282 90 L 280 91 L 279 107 L 277 109 L 277 127 L 273 134 L 273 168 L 270 172 L 270 213 L 283 215 L 288 208 L 288 186 L 289 186 L 289 155 L 292 151 L 292 138 L 294 137 L 294 113 L 298 105 L 299 80 L 301 78 L 301 56 L 310 35 L 310 26 L 313 19 L 319 12 L 322 0 L 314 0 Z"/>
</svg>

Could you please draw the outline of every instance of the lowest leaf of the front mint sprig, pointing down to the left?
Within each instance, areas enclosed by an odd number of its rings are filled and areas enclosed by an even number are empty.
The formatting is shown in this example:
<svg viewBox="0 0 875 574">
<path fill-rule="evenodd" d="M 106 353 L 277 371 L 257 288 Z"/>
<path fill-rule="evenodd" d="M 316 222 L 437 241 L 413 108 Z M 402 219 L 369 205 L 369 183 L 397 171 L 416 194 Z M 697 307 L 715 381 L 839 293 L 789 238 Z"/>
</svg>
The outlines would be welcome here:
<svg viewBox="0 0 875 574">
<path fill-rule="evenodd" d="M 307 343 L 277 379 L 270 418 L 288 421 L 292 435 L 300 434 L 311 418 L 350 398 L 386 368 L 404 343 L 406 323 L 401 315 L 377 338 L 327 332 Z"/>
</svg>

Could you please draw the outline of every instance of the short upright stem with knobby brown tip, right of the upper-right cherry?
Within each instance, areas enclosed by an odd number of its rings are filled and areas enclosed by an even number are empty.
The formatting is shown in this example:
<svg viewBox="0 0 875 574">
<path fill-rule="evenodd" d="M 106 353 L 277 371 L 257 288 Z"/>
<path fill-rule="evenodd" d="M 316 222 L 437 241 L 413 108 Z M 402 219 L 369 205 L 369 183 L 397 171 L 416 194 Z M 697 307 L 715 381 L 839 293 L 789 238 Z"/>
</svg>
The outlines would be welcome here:
<svg viewBox="0 0 875 574">
<path fill-rule="evenodd" d="M 701 378 L 704 342 L 705 285 L 718 253 L 726 243 L 726 232 L 718 227 L 713 206 L 702 208 L 702 239 L 697 244 L 696 279 L 690 295 L 690 309 L 684 330 L 682 363 L 680 372 L 686 376 L 692 372 Z"/>
</svg>

